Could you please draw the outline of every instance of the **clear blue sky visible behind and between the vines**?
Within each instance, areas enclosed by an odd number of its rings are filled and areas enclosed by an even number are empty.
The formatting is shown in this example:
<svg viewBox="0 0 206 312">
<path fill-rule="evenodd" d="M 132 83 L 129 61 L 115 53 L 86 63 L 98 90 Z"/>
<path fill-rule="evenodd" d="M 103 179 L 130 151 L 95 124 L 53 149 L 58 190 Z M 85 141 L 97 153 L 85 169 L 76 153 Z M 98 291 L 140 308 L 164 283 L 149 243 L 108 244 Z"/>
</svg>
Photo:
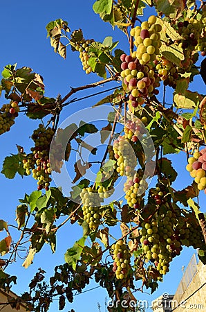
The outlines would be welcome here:
<svg viewBox="0 0 206 312">
<path fill-rule="evenodd" d="M 60 58 L 53 52 L 50 42 L 46 39 L 46 24 L 57 18 L 68 21 L 68 26 L 72 29 L 82 28 L 84 36 L 88 39 L 94 38 L 96 41 L 102 42 L 104 37 L 111 35 L 114 39 L 120 40 L 119 49 L 123 49 L 129 53 L 129 45 L 127 39 L 118 30 L 113 31 L 111 26 L 103 23 L 98 15 L 92 10 L 94 1 L 65 1 L 60 2 L 53 0 L 44 1 L 3 1 L 1 3 L 1 52 L 0 52 L 0 70 L 6 64 L 14 64 L 17 67 L 31 67 L 35 72 L 40 73 L 44 77 L 46 85 L 46 96 L 56 97 L 57 94 L 64 96 L 70 87 L 79 87 L 87 83 L 93 83 L 100 78 L 94 74 L 86 76 L 79 62 L 78 53 L 72 53 L 68 49 L 68 57 L 66 60 Z M 148 17 L 149 12 L 146 12 Z M 142 19 L 144 20 L 144 19 Z M 113 84 L 106 87 L 113 87 Z M 190 88 L 192 91 L 203 92 L 205 85 L 200 77 L 194 79 L 194 83 Z M 102 91 L 102 87 L 95 89 L 95 92 Z M 79 92 L 77 97 L 91 94 L 93 91 Z M 167 92 L 166 101 L 171 103 L 172 89 Z M 77 110 L 91 106 L 100 100 L 100 96 L 90 98 L 88 100 L 73 103 L 64 110 L 61 121 L 70 116 Z M 3 96 L 0 98 L 0 104 L 6 103 Z M 84 119 L 84 116 L 82 116 Z M 0 137 L 1 151 L 0 164 L 3 159 L 10 153 L 16 153 L 16 144 L 24 146 L 29 151 L 31 141 L 28 135 L 32 134 L 32 130 L 39 122 L 29 121 L 25 116 L 19 116 L 16 125 L 12 130 Z M 189 174 L 185 170 L 186 157 L 185 154 L 175 155 L 171 157 L 174 160 L 174 167 L 178 171 L 178 179 L 174 184 L 177 189 L 182 189 L 191 182 Z M 36 189 L 36 182 L 31 177 L 21 179 L 15 177 L 15 180 L 7 180 L 0 174 L 1 184 L 1 215 L 0 218 L 14 224 L 15 208 L 18 205 L 18 198 L 23 198 L 24 193 L 31 193 Z M 203 196 L 200 196 L 200 203 L 203 204 Z M 204 211 L 204 210 L 203 210 Z M 11 229 L 13 239 L 17 239 L 16 232 Z M 37 268 L 41 267 L 48 272 L 48 277 L 53 274 L 53 267 L 64 262 L 64 252 L 73 245 L 73 242 L 82 235 L 82 229 L 79 225 L 66 225 L 60 229 L 57 234 L 57 252 L 51 254 L 49 246 L 44 246 L 44 250 L 35 256 L 35 263 L 27 270 L 22 268 L 22 260 L 18 259 L 17 263 L 10 266 L 8 272 L 19 277 L 17 286 L 13 288 L 16 293 L 26 290 L 30 279 L 33 277 Z M 0 236 L 1 238 L 1 236 Z M 158 291 L 149 296 L 146 294 L 136 293 L 136 297 L 141 300 L 154 300 L 164 292 L 174 293 L 178 282 L 182 277 L 182 266 L 187 266 L 191 255 L 194 253 L 192 248 L 184 248 L 182 254 L 174 259 L 171 263 L 171 270 L 165 276 L 165 280 L 160 284 Z M 97 286 L 91 283 L 86 289 Z M 100 302 L 104 312 L 104 300 L 106 291 L 97 288 L 94 291 L 78 295 L 75 297 L 73 304 L 66 306 L 65 311 L 71 308 L 75 311 L 97 312 L 97 302 Z M 108 297 L 108 296 L 107 296 Z M 57 311 L 54 303 L 50 307 L 50 311 Z M 147 310 L 149 311 L 149 310 Z"/>
</svg>

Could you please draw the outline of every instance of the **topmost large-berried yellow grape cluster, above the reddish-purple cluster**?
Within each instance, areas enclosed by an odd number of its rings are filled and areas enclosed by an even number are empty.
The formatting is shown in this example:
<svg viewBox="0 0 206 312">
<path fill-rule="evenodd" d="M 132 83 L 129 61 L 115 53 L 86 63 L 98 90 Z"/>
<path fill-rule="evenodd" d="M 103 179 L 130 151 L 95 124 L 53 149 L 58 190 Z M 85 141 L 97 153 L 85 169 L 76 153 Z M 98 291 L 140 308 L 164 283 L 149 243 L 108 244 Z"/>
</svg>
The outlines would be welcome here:
<svg viewBox="0 0 206 312">
<path fill-rule="evenodd" d="M 131 36 L 134 37 L 134 44 L 137 47 L 134 53 L 140 64 L 153 62 L 156 55 L 160 54 L 162 26 L 156 22 L 156 16 L 151 15 L 147 21 L 142 22 L 141 26 L 131 29 Z"/>
</svg>

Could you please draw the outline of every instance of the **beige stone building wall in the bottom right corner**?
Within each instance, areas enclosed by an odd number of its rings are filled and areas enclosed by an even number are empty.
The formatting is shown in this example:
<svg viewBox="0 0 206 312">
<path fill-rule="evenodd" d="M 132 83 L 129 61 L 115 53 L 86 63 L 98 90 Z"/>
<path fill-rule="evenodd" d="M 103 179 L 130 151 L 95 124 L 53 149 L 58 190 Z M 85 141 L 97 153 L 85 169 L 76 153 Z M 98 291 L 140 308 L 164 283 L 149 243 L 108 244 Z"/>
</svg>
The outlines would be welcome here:
<svg viewBox="0 0 206 312">
<path fill-rule="evenodd" d="M 200 288 L 200 286 L 203 287 Z M 198 290 L 198 288 L 200 289 Z M 192 295 L 193 293 L 194 295 Z M 177 306 L 177 302 L 180 304 L 180 302 L 186 300 L 190 295 L 192 296 L 184 304 L 178 306 L 177 309 L 174 309 Z M 178 290 L 175 293 L 173 309 L 174 312 L 206 312 L 206 266 L 204 266 L 201 261 L 199 261 L 196 274 L 191 279 L 191 282 L 184 293 L 180 293 Z"/>
</svg>

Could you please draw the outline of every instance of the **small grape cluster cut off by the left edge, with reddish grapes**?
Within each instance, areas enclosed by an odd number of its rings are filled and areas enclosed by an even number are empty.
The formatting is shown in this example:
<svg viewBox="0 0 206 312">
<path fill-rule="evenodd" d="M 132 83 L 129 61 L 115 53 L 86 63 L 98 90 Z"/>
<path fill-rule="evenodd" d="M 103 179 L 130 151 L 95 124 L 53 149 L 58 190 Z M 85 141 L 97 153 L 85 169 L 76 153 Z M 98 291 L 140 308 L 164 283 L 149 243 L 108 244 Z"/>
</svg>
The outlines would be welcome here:
<svg viewBox="0 0 206 312">
<path fill-rule="evenodd" d="M 11 101 L 3 104 L 0 112 L 0 135 L 10 130 L 15 124 L 15 118 L 19 115 L 18 102 Z"/>
</svg>

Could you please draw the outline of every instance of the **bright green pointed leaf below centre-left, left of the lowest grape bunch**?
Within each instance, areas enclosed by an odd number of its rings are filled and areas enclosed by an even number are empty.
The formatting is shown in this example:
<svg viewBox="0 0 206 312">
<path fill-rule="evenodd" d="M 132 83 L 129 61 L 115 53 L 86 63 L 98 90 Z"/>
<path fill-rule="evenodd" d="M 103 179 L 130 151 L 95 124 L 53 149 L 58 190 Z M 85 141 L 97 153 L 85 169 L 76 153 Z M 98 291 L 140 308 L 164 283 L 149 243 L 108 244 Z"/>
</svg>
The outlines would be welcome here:
<svg viewBox="0 0 206 312">
<path fill-rule="evenodd" d="M 82 250 L 84 248 L 84 244 L 87 236 L 83 236 L 82 239 L 76 241 L 72 248 L 66 250 L 64 254 L 64 259 L 68 265 L 73 267 L 73 270 L 76 269 L 77 261 L 80 259 Z"/>
</svg>

